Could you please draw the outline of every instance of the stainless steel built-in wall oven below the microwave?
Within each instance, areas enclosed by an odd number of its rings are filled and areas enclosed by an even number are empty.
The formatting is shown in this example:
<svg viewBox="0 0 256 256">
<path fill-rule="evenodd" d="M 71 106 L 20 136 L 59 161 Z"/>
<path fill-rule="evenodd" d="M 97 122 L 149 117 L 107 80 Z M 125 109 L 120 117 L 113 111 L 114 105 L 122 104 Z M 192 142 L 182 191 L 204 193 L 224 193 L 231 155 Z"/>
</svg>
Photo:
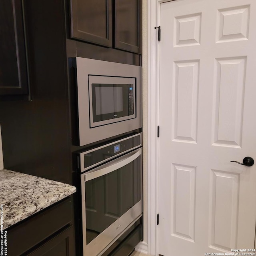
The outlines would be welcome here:
<svg viewBox="0 0 256 256">
<path fill-rule="evenodd" d="M 81 152 L 84 256 L 102 255 L 142 216 L 142 134 Z"/>
</svg>

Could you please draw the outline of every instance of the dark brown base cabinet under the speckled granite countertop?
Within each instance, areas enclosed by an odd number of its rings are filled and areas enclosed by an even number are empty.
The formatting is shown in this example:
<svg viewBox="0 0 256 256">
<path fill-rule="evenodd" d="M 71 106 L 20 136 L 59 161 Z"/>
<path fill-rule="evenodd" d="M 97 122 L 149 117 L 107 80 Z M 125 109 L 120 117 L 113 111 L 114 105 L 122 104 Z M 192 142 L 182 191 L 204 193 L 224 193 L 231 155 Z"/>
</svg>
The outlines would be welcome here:
<svg viewBox="0 0 256 256">
<path fill-rule="evenodd" d="M 72 197 L 7 229 L 8 255 L 75 256 Z"/>
</svg>

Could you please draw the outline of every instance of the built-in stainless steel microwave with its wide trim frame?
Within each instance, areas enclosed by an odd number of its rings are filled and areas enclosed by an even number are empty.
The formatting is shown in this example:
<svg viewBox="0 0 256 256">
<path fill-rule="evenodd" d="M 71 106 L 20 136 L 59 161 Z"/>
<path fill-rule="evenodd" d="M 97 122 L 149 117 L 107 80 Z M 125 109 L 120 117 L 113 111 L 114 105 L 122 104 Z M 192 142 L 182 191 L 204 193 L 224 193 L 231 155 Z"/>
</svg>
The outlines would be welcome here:
<svg viewBox="0 0 256 256">
<path fill-rule="evenodd" d="M 140 66 L 76 57 L 79 145 L 142 127 Z"/>
</svg>

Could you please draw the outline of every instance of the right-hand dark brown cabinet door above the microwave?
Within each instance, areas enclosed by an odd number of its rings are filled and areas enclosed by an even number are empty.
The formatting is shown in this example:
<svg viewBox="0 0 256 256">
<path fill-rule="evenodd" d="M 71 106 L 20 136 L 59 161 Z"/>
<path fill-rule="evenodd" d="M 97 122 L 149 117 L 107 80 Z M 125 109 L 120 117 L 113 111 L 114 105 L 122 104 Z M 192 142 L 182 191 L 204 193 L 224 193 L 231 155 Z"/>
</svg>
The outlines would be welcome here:
<svg viewBox="0 0 256 256">
<path fill-rule="evenodd" d="M 141 54 L 141 0 L 115 0 L 115 48 Z"/>
</svg>

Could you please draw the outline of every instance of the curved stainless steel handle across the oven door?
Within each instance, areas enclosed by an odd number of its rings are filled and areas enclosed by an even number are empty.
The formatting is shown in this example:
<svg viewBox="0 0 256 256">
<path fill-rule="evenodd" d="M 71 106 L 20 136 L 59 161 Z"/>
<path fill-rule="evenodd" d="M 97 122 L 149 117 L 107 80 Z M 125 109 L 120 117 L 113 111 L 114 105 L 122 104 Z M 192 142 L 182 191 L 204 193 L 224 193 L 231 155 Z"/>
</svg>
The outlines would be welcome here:
<svg viewBox="0 0 256 256">
<path fill-rule="evenodd" d="M 115 160 L 112 160 L 111 162 L 104 164 L 103 166 L 94 168 L 93 170 L 84 174 L 84 182 L 98 178 L 98 177 L 108 174 L 110 172 L 114 172 L 115 170 L 117 170 L 119 168 L 122 168 L 123 166 L 129 164 L 130 162 L 132 162 L 136 158 L 138 158 L 141 155 L 141 153 L 142 153 L 142 149 L 139 148 L 137 150 L 134 150 L 134 151 L 124 155 L 124 156 L 121 156 Z"/>
</svg>

